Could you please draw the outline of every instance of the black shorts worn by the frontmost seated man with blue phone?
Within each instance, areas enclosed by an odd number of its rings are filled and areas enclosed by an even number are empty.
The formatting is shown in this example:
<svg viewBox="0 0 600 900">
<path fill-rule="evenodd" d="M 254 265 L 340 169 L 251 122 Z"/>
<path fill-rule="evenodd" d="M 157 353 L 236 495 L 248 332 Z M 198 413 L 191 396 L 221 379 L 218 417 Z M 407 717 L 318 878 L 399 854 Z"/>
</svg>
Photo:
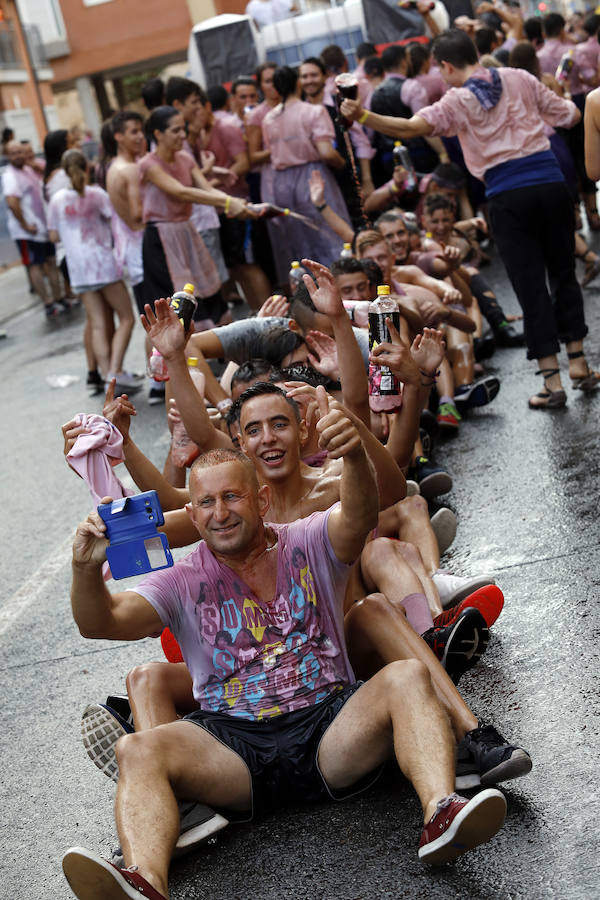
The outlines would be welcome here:
<svg viewBox="0 0 600 900">
<path fill-rule="evenodd" d="M 362 682 L 334 691 L 315 706 L 307 706 L 261 721 L 240 719 L 202 709 L 185 716 L 233 750 L 250 773 L 252 807 L 249 813 L 223 810 L 233 821 L 247 822 L 256 813 L 286 805 L 344 800 L 365 791 L 379 778 L 383 766 L 342 791 L 333 791 L 319 771 L 321 740 Z"/>
</svg>

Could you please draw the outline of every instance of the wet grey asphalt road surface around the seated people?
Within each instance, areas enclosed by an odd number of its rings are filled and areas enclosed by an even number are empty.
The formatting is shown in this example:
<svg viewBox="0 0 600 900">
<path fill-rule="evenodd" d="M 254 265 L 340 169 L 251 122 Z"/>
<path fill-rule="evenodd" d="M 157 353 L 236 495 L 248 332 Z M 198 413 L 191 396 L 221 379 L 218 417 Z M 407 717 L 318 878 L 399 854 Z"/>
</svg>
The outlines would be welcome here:
<svg viewBox="0 0 600 900">
<path fill-rule="evenodd" d="M 516 302 L 498 266 L 487 270 L 508 311 Z M 0 309 L 29 298 L 0 276 Z M 18 281 L 18 278 L 17 278 Z M 14 292 L 14 297 L 11 295 Z M 600 363 L 600 279 L 585 291 Z M 85 390 L 83 316 L 48 325 L 39 308 L 12 318 L 0 343 L 2 591 L 0 898 L 70 895 L 60 867 L 69 846 L 108 853 L 117 843 L 113 786 L 79 737 L 84 706 L 124 689 L 127 670 L 160 659 L 146 640 L 82 639 L 69 609 L 69 545 L 91 507 L 62 457 L 60 425 L 99 410 Z M 136 328 L 129 368 L 143 365 Z M 508 817 L 495 840 L 443 870 L 416 851 L 420 815 L 393 769 L 366 796 L 288 810 L 230 827 L 217 843 L 172 866 L 172 898 L 589 898 L 598 896 L 600 395 L 552 415 L 527 409 L 534 364 L 504 350 L 490 371 L 495 402 L 472 414 L 437 458 L 454 477 L 459 518 L 447 567 L 490 572 L 506 596 L 488 651 L 461 682 L 473 709 L 532 754 L 532 773 L 506 786 Z M 79 380 L 52 388 L 47 377 Z M 600 394 L 600 392 L 599 392 Z M 135 437 L 162 463 L 164 413 L 138 403 Z M 124 479 L 126 480 L 126 479 Z"/>
</svg>

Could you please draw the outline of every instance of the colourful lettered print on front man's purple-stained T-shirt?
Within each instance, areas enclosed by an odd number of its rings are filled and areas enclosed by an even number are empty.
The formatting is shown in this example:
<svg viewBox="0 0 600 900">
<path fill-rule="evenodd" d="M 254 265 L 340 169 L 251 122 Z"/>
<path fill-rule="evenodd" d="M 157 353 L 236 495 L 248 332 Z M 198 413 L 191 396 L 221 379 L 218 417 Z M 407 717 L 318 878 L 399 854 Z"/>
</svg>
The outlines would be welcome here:
<svg viewBox="0 0 600 900">
<path fill-rule="evenodd" d="M 303 550 L 291 552 L 287 590 L 260 602 L 233 578 L 202 585 L 198 639 L 212 648 L 203 709 L 262 719 L 318 703 L 345 683 L 340 649 L 324 633 Z M 337 664 L 336 664 L 337 663 Z"/>
</svg>

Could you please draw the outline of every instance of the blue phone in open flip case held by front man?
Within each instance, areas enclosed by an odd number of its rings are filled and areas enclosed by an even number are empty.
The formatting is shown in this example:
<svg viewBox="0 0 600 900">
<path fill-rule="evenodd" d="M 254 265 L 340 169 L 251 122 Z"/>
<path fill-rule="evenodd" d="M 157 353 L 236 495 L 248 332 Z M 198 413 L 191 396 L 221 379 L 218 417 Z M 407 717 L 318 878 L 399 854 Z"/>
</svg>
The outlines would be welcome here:
<svg viewBox="0 0 600 900">
<path fill-rule="evenodd" d="M 101 503 L 98 513 L 106 524 L 106 558 L 113 578 L 143 575 L 173 565 L 167 538 L 157 530 L 165 519 L 156 491 Z"/>
</svg>

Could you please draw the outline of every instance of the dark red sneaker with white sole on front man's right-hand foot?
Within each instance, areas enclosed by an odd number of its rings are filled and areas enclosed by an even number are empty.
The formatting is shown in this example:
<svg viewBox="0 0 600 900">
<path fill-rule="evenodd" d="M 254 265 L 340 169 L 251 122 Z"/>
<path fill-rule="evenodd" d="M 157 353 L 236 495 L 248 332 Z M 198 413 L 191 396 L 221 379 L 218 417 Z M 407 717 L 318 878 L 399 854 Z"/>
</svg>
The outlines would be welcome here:
<svg viewBox="0 0 600 900">
<path fill-rule="evenodd" d="M 506 800 L 495 788 L 488 788 L 472 800 L 450 794 L 423 828 L 419 859 L 432 866 L 452 862 L 458 856 L 489 841 L 504 824 Z"/>
</svg>

